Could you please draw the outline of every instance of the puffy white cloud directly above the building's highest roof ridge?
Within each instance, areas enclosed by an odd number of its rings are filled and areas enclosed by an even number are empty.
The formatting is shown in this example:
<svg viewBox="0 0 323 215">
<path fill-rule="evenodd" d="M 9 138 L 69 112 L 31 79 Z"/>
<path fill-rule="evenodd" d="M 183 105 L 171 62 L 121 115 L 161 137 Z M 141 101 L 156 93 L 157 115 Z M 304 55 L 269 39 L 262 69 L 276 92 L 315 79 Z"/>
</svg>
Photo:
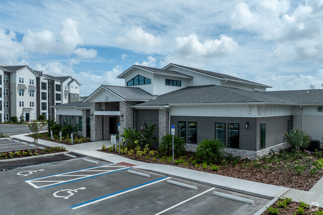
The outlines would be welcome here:
<svg viewBox="0 0 323 215">
<path fill-rule="evenodd" d="M 220 40 L 205 40 L 203 43 L 198 40 L 196 34 L 191 34 L 188 37 L 176 37 L 176 53 L 188 58 L 212 59 L 233 53 L 237 49 L 238 43 L 225 35 L 220 35 Z"/>
</svg>

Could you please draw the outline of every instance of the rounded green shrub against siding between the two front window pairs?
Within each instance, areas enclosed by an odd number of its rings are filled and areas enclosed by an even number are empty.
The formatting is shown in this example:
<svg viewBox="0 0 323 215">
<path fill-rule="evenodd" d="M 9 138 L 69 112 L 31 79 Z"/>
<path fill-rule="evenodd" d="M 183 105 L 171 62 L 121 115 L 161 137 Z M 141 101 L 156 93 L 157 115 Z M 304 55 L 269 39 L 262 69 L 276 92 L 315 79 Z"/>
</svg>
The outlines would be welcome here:
<svg viewBox="0 0 323 215">
<path fill-rule="evenodd" d="M 223 160 L 224 146 L 218 140 L 203 140 L 196 148 L 196 158 L 207 163 L 220 163 Z"/>
</svg>

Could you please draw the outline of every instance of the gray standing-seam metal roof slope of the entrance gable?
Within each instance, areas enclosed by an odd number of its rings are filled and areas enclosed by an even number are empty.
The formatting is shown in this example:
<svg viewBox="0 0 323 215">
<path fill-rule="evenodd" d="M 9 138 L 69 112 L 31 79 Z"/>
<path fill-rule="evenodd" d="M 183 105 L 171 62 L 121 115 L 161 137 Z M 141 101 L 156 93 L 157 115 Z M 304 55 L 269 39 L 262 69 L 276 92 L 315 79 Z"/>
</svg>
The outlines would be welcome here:
<svg viewBox="0 0 323 215">
<path fill-rule="evenodd" d="M 104 87 L 125 100 L 152 100 L 156 98 L 156 96 L 146 92 L 139 87 L 110 85 L 104 85 Z"/>
</svg>

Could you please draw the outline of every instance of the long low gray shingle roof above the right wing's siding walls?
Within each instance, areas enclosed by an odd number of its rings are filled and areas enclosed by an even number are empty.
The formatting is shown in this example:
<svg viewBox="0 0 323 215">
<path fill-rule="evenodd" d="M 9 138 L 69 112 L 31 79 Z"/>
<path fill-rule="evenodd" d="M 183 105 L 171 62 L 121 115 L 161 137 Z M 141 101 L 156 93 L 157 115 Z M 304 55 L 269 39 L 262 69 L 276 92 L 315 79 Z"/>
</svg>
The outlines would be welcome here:
<svg viewBox="0 0 323 215">
<path fill-rule="evenodd" d="M 134 106 L 232 102 L 323 103 L 323 90 L 313 91 L 312 94 L 311 90 L 309 93 L 307 93 L 307 90 L 294 90 L 294 92 L 284 93 L 286 91 L 257 92 L 217 85 L 192 86 L 162 94 L 155 100 Z M 300 99 L 299 96 L 303 98 Z M 307 98 L 304 98 L 305 96 Z M 318 99 L 318 97 L 320 98 Z"/>
</svg>

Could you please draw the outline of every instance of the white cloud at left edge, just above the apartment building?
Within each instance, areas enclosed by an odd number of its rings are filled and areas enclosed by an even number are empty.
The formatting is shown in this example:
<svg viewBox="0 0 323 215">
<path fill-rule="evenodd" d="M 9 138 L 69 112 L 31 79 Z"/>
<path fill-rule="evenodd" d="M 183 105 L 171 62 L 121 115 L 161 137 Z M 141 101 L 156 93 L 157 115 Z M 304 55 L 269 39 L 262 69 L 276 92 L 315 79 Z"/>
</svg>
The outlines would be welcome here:
<svg viewBox="0 0 323 215">
<path fill-rule="evenodd" d="M 0 62 L 9 64 L 24 54 L 23 46 L 16 41 L 16 34 L 0 29 Z"/>
</svg>

